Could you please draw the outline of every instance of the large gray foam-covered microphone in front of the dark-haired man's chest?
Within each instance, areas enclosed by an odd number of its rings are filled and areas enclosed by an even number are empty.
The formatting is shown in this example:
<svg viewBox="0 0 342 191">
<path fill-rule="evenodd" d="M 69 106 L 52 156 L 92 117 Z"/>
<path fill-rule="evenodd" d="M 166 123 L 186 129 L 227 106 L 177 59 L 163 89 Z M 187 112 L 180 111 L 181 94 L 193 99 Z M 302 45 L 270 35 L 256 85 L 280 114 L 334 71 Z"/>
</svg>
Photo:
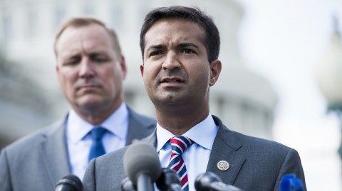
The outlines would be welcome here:
<svg viewBox="0 0 342 191">
<path fill-rule="evenodd" d="M 138 191 L 154 190 L 152 182 L 162 173 L 155 148 L 143 142 L 134 143 L 125 151 L 123 168 Z"/>
</svg>

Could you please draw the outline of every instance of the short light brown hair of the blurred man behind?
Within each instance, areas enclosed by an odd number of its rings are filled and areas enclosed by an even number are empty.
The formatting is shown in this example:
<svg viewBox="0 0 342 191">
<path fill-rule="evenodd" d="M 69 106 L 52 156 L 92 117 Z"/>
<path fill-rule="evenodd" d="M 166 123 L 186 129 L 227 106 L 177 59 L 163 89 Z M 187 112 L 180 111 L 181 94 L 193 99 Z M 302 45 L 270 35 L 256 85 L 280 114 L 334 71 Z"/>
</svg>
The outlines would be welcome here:
<svg viewBox="0 0 342 191">
<path fill-rule="evenodd" d="M 103 23 L 102 21 L 100 21 L 96 18 L 91 18 L 91 17 L 87 17 L 87 16 L 69 18 L 68 20 L 64 21 L 64 23 L 61 25 L 61 28 L 58 30 L 58 32 L 56 34 L 55 43 L 53 44 L 53 49 L 55 51 L 55 55 L 57 56 L 57 54 L 58 54 L 57 53 L 58 40 L 61 37 L 62 33 L 66 30 L 66 28 L 69 28 L 69 27 L 80 28 L 83 26 L 90 26 L 92 24 L 96 24 L 96 25 L 99 25 L 99 26 L 102 26 L 103 28 L 105 28 L 105 31 L 107 31 L 109 36 L 112 38 L 113 49 L 115 50 L 115 52 L 120 57 L 122 55 L 122 53 L 121 53 L 121 48 L 120 48 L 118 36 L 116 35 L 115 31 L 113 29 L 105 26 L 105 23 Z"/>
</svg>

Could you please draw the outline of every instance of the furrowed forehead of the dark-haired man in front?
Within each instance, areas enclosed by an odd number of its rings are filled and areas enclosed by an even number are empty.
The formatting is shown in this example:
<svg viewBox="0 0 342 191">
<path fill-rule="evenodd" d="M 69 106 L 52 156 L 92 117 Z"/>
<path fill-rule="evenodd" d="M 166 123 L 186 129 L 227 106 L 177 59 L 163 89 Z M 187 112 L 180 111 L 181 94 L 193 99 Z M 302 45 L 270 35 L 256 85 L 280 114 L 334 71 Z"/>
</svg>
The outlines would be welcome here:
<svg viewBox="0 0 342 191">
<path fill-rule="evenodd" d="M 204 46 L 205 31 L 192 21 L 166 19 L 154 23 L 145 34 L 145 49 L 150 45 L 196 43 Z"/>
</svg>

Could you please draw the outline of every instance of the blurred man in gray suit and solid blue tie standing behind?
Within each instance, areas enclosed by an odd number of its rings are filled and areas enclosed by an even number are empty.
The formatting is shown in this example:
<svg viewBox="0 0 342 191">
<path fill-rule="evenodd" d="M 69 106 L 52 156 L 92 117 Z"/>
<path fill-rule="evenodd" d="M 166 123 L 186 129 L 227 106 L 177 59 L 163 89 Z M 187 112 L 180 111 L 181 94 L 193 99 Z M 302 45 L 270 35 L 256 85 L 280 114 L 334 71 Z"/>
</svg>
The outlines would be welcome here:
<svg viewBox="0 0 342 191">
<path fill-rule="evenodd" d="M 57 33 L 58 82 L 71 105 L 61 121 L 1 151 L 0 190 L 54 190 L 73 173 L 83 178 L 88 162 L 145 138 L 155 120 L 124 102 L 127 72 L 114 31 L 94 18 L 72 18 Z"/>
</svg>

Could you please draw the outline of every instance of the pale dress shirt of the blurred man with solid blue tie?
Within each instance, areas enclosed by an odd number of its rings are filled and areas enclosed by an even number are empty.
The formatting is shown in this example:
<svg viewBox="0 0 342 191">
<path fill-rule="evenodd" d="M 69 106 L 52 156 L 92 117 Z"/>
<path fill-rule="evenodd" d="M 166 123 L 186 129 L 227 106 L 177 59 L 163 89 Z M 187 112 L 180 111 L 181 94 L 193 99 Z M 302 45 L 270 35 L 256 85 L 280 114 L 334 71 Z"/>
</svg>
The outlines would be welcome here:
<svg viewBox="0 0 342 191">
<path fill-rule="evenodd" d="M 123 103 L 108 119 L 98 125 L 107 132 L 102 137 L 105 152 L 115 151 L 123 148 L 128 133 L 129 114 L 126 104 Z M 84 121 L 75 111 L 71 110 L 66 121 L 66 140 L 68 146 L 69 163 L 71 173 L 82 180 L 88 166 L 88 155 L 92 143 L 89 132 L 93 125 Z"/>
</svg>

